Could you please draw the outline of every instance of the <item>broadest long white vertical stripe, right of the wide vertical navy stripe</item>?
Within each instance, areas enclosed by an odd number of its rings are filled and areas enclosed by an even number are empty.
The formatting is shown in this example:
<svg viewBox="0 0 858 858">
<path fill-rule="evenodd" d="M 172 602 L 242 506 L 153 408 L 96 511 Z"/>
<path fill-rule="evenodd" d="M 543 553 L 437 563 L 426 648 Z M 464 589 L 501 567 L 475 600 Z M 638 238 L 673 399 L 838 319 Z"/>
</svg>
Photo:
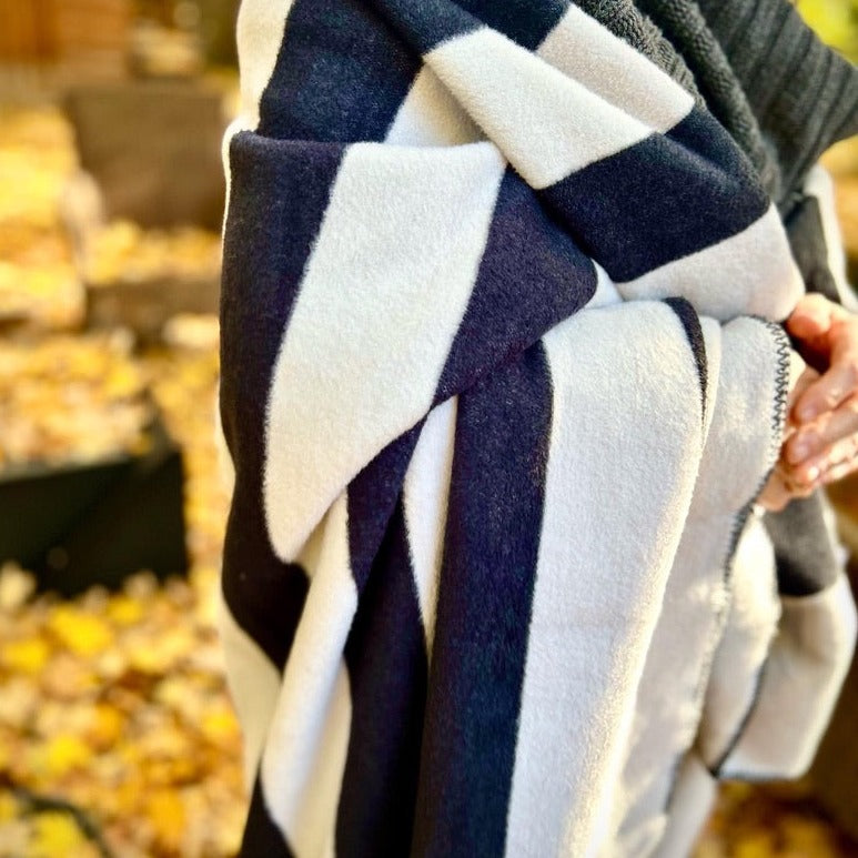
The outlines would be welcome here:
<svg viewBox="0 0 858 858">
<path fill-rule="evenodd" d="M 555 422 L 506 851 L 534 858 L 593 855 L 606 834 L 701 447 L 699 380 L 665 305 L 584 311 L 545 346 Z"/>
</svg>

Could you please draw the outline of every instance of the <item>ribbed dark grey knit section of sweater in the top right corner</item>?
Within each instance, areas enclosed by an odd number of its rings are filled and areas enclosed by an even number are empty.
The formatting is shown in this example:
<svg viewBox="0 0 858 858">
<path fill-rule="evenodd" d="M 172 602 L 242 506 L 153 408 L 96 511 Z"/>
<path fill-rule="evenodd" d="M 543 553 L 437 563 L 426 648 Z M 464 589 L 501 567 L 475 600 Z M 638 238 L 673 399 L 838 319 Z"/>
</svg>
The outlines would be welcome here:
<svg viewBox="0 0 858 858">
<path fill-rule="evenodd" d="M 777 151 L 784 193 L 800 191 L 819 155 L 858 133 L 858 70 L 824 44 L 787 0 L 698 6 Z"/>
</svg>

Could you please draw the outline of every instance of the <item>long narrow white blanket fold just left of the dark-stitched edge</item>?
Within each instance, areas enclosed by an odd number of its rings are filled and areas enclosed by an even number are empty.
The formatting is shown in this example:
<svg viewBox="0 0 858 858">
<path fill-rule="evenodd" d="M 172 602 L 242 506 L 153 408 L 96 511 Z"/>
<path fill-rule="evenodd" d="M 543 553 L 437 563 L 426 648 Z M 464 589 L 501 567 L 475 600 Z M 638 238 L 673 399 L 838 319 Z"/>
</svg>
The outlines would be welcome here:
<svg viewBox="0 0 858 858">
<path fill-rule="evenodd" d="M 736 527 L 734 511 L 743 498 L 755 494 L 754 475 L 774 464 L 775 448 L 759 444 L 748 421 L 748 413 L 757 412 L 760 403 L 777 400 L 775 376 L 749 372 L 754 355 L 770 343 L 770 331 L 754 320 L 739 319 L 723 333 L 709 322 L 706 334 L 713 372 L 711 418 L 694 498 L 647 653 L 633 738 L 614 806 L 610 842 L 616 838 L 629 845 L 629 855 L 634 854 L 630 844 L 642 842 L 650 821 L 667 807 L 675 771 L 665 760 L 677 763 L 697 731 L 703 683 L 726 620 L 725 558 Z M 769 418 L 777 425 L 774 407 Z M 734 480 L 720 480 L 725 473 Z M 774 592 L 770 554 L 767 559 L 768 565 L 754 568 L 754 578 L 758 586 Z M 736 594 L 737 598 L 746 595 L 744 590 Z"/>
</svg>

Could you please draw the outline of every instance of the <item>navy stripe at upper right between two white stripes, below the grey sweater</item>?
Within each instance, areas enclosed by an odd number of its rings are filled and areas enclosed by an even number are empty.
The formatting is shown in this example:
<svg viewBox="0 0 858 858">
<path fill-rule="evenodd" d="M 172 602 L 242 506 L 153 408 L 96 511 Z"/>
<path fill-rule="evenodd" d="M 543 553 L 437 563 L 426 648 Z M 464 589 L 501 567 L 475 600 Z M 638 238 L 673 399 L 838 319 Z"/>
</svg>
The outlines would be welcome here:
<svg viewBox="0 0 858 858">
<path fill-rule="evenodd" d="M 686 149 L 707 139 L 709 159 Z M 585 166 L 542 193 L 616 282 L 717 244 L 765 214 L 769 201 L 734 157 L 715 119 L 693 110 L 668 134 Z"/>
</svg>

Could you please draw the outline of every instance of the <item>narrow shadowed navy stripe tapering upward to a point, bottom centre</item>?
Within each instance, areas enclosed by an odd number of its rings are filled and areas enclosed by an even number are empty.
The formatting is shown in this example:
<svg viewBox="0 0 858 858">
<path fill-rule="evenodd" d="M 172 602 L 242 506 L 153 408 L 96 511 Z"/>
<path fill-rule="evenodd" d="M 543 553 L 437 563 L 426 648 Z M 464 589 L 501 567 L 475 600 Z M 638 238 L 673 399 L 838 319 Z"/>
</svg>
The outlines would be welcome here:
<svg viewBox="0 0 858 858">
<path fill-rule="evenodd" d="M 402 499 L 377 549 L 345 645 L 352 729 L 336 855 L 408 854 L 427 656 Z"/>
</svg>

